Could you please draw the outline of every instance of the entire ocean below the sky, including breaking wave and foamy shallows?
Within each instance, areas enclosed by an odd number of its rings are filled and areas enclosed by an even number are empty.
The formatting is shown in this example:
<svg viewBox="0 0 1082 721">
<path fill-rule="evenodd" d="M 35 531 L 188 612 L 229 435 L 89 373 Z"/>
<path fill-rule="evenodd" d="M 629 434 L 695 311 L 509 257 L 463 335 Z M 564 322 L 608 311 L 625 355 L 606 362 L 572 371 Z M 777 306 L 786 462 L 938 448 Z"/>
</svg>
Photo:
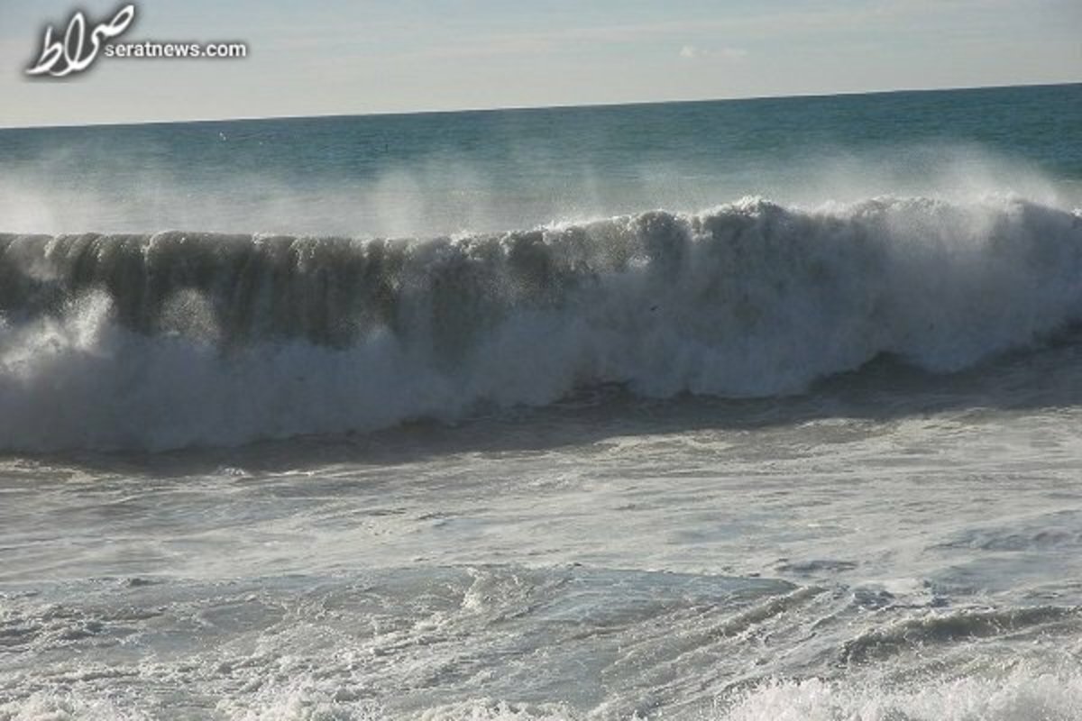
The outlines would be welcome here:
<svg viewBox="0 0 1082 721">
<path fill-rule="evenodd" d="M 1082 719 L 1080 119 L 0 130 L 0 720 Z"/>
</svg>

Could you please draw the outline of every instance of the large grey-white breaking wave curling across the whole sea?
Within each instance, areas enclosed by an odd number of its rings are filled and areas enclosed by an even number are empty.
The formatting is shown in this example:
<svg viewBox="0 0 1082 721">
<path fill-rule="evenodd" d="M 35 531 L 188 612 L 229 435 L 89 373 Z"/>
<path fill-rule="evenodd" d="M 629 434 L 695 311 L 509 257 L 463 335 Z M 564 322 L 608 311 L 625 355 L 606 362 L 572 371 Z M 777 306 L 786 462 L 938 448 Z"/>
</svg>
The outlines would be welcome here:
<svg viewBox="0 0 1082 721">
<path fill-rule="evenodd" d="M 763 397 L 1082 320 L 1082 212 L 744 199 L 432 240 L 0 235 L 0 448 L 370 430 L 619 383 Z"/>
</svg>

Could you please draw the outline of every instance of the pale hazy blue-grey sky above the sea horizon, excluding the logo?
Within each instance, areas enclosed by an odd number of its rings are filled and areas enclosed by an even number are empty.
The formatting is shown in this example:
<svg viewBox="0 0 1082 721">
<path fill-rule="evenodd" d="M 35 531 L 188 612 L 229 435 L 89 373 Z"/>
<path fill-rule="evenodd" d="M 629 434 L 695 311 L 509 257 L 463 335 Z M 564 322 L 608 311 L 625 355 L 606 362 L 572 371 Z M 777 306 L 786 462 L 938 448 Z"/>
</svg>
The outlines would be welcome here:
<svg viewBox="0 0 1082 721">
<path fill-rule="evenodd" d="M 142 0 L 98 59 L 32 79 L 47 25 L 117 0 L 0 0 L 0 126 L 413 112 L 1082 81 L 1079 0 Z"/>
</svg>

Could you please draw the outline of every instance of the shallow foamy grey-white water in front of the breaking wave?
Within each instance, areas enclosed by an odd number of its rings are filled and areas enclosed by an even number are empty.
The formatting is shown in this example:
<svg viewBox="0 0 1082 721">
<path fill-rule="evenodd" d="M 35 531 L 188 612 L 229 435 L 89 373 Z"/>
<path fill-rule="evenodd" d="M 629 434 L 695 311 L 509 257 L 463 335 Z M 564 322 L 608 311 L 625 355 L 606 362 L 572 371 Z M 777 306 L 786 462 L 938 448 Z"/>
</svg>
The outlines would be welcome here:
<svg viewBox="0 0 1082 721">
<path fill-rule="evenodd" d="M 9 460 L 0 718 L 1078 718 L 1077 348 Z"/>
</svg>

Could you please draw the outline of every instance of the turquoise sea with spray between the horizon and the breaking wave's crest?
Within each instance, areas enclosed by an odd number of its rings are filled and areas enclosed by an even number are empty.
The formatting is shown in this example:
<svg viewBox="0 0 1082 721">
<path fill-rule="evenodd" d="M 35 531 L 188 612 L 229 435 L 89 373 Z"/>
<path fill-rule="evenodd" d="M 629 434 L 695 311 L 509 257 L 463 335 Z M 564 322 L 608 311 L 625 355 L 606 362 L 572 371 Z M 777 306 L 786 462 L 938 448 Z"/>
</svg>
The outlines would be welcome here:
<svg viewBox="0 0 1082 721">
<path fill-rule="evenodd" d="M 432 236 L 1048 178 L 1077 199 L 1080 115 L 1056 85 L 12 130 L 4 230 Z"/>
</svg>

